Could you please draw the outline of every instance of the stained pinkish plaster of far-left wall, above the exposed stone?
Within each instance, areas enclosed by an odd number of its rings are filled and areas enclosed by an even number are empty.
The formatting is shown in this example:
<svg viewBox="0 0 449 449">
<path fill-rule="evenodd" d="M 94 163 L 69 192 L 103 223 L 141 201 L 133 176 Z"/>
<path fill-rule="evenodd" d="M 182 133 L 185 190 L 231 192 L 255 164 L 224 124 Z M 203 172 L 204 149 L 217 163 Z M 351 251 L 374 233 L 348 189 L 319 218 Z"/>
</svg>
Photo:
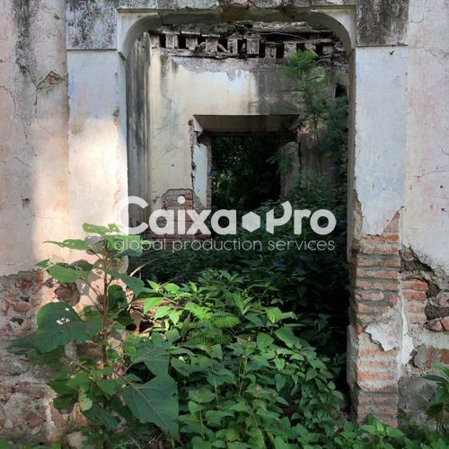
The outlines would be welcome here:
<svg viewBox="0 0 449 449">
<path fill-rule="evenodd" d="M 1 276 L 66 236 L 68 109 L 61 2 L 5 0 L 0 22 Z"/>
</svg>

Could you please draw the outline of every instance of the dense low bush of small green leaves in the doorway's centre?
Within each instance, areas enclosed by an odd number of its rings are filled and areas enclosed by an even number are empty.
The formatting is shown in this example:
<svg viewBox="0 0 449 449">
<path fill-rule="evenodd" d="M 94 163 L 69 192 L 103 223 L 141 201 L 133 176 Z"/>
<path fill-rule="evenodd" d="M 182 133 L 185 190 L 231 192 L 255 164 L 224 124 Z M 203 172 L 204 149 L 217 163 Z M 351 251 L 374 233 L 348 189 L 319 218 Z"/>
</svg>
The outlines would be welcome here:
<svg viewBox="0 0 449 449">
<path fill-rule="evenodd" d="M 277 307 L 277 288 L 210 270 L 171 290 L 172 305 L 156 306 L 154 317 L 172 345 L 183 447 L 284 447 L 332 435 L 342 395 L 327 359 L 295 336 L 299 317 Z"/>
</svg>

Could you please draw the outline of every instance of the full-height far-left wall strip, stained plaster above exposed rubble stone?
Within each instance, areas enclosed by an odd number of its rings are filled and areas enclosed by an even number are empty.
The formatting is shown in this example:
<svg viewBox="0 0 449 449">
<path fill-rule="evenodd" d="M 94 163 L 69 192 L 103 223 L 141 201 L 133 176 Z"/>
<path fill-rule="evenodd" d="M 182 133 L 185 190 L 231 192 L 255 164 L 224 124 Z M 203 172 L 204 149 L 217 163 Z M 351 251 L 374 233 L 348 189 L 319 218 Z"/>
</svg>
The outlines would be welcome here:
<svg viewBox="0 0 449 449">
<path fill-rule="evenodd" d="M 67 235 L 65 9 L 59 0 L 0 2 L 0 435 L 57 439 L 66 418 L 49 405 L 46 370 L 6 353 L 53 297 L 34 263 Z"/>
</svg>

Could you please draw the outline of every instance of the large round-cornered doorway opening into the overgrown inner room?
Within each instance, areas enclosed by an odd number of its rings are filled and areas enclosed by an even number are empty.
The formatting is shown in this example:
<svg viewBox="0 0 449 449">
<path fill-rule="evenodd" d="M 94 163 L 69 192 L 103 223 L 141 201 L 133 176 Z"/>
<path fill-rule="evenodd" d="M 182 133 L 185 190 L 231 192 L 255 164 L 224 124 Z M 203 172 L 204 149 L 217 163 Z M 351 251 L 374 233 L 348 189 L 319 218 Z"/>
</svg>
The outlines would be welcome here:
<svg viewBox="0 0 449 449">
<path fill-rule="evenodd" d="M 169 254 L 145 255 L 142 277 L 194 284 L 208 292 L 195 296 L 201 307 L 218 303 L 223 313 L 238 298 L 262 307 L 243 330 L 247 316 L 238 303 L 238 322 L 229 329 L 209 322 L 214 329 L 207 334 L 192 312 L 192 341 L 227 351 L 236 335 L 252 341 L 256 330 L 282 327 L 320 357 L 329 379 L 347 393 L 348 61 L 341 42 L 304 23 L 167 25 L 136 42 L 128 76 L 134 80 L 128 107 L 136 106 L 128 110 L 132 193 L 149 191 L 154 210 L 234 209 L 239 218 L 252 212 L 261 222 L 212 238 L 164 235 Z M 138 182 L 142 170 L 145 186 Z M 317 235 L 305 221 L 296 233 L 290 220 L 267 232 L 269 211 L 279 219 L 286 202 L 311 214 L 328 209 L 337 225 Z M 305 383 L 313 370 L 304 373 Z"/>
</svg>

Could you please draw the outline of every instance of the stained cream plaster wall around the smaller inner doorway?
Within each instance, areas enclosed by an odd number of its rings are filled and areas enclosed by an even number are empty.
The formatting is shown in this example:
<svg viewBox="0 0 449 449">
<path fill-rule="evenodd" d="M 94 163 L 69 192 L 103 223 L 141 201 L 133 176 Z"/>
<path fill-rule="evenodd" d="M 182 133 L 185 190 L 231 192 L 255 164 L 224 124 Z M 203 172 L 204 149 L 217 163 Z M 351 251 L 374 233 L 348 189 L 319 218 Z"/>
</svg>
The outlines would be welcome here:
<svg viewBox="0 0 449 449">
<path fill-rule="evenodd" d="M 179 187 L 195 189 L 206 206 L 207 170 L 192 167 L 190 120 L 195 115 L 293 114 L 297 109 L 288 101 L 293 85 L 275 62 L 154 53 L 148 74 L 152 132 L 146 167 L 151 173 L 151 207 L 161 207 L 163 193 Z M 203 153 L 193 154 L 197 164 L 207 161 L 206 150 Z"/>
</svg>

